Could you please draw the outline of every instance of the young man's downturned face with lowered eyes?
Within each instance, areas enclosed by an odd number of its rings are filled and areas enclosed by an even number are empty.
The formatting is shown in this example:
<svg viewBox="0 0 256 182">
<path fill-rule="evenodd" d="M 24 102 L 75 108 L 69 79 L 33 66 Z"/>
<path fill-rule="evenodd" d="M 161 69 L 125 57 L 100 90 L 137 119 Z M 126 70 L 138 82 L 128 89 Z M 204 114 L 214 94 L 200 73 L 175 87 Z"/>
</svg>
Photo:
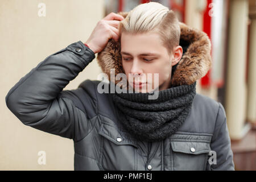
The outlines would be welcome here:
<svg viewBox="0 0 256 182">
<path fill-rule="evenodd" d="M 121 55 L 129 88 L 133 88 L 136 92 L 146 93 L 157 88 L 164 90 L 170 87 L 173 56 L 168 55 L 167 48 L 162 45 L 157 33 L 123 32 Z M 152 79 L 148 79 L 148 73 L 152 74 Z M 155 73 L 158 74 L 158 78 L 154 76 Z M 144 84 L 139 84 L 139 82 Z"/>
</svg>

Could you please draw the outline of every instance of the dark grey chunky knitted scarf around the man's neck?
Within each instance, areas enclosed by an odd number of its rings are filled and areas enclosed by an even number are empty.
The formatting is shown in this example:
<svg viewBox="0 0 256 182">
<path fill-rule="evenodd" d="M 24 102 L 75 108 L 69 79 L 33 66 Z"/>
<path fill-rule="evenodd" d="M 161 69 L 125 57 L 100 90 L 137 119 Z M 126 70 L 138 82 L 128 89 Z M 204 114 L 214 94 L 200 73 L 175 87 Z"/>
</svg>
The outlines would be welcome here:
<svg viewBox="0 0 256 182">
<path fill-rule="evenodd" d="M 133 137 L 148 142 L 160 141 L 173 134 L 185 121 L 196 95 L 196 82 L 152 93 L 111 94 L 119 112 L 119 121 Z"/>
</svg>

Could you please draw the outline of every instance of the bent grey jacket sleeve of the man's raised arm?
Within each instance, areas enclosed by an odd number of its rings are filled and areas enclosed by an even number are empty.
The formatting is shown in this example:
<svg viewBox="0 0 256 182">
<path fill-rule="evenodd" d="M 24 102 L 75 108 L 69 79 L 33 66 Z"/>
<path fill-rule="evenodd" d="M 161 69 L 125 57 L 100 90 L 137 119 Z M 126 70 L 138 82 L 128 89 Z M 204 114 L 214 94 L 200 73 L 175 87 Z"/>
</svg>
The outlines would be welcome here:
<svg viewBox="0 0 256 182">
<path fill-rule="evenodd" d="M 49 55 L 9 90 L 7 107 L 24 125 L 80 139 L 79 130 L 90 127 L 87 116 L 72 101 L 72 91 L 63 88 L 94 58 L 94 52 L 81 41 Z"/>
</svg>

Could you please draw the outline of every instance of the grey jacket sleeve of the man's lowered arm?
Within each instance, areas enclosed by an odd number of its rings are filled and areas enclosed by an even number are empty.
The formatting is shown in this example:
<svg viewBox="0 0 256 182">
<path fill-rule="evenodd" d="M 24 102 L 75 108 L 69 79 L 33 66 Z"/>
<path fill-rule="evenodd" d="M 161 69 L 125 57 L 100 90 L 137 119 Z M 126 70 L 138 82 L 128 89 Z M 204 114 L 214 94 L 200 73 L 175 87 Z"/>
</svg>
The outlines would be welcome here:
<svg viewBox="0 0 256 182">
<path fill-rule="evenodd" d="M 216 163 L 207 162 L 207 170 L 233 171 L 233 152 L 231 149 L 228 126 L 226 122 L 226 113 L 224 107 L 218 102 L 218 114 L 216 118 L 212 143 L 210 145 L 212 151 L 216 153 Z"/>
</svg>

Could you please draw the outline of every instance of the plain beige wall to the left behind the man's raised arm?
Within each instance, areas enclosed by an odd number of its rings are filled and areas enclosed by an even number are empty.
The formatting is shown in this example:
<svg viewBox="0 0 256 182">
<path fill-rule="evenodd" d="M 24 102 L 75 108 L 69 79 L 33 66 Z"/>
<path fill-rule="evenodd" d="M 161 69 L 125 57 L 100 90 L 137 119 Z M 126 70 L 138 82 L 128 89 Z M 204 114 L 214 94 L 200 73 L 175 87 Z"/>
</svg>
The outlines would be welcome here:
<svg viewBox="0 0 256 182">
<path fill-rule="evenodd" d="M 41 2 L 45 17 L 38 16 Z M 7 108 L 5 96 L 48 55 L 85 42 L 103 16 L 103 0 L 1 0 L 0 170 L 73 170 L 73 140 L 23 125 Z M 98 73 L 94 59 L 65 89 L 75 89 L 87 78 L 96 80 Z M 46 165 L 38 164 L 39 151 L 46 151 Z"/>
</svg>

